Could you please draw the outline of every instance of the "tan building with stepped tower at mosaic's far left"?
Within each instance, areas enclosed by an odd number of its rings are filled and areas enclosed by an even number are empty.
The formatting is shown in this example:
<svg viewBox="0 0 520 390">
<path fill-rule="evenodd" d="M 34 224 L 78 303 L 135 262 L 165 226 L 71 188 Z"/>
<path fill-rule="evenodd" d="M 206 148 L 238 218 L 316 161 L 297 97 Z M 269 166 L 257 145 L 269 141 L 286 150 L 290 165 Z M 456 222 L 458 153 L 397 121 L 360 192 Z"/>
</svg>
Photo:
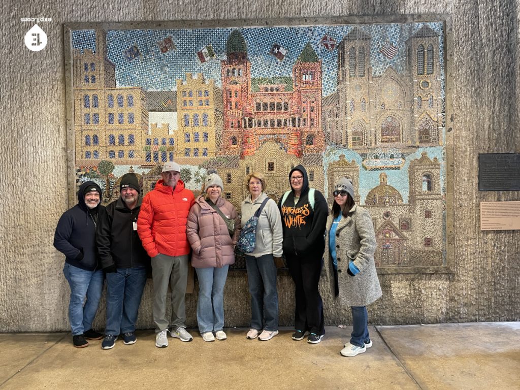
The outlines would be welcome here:
<svg viewBox="0 0 520 390">
<path fill-rule="evenodd" d="M 73 74 L 76 165 L 144 163 L 145 94 L 139 87 L 116 88 L 105 32 L 96 31 L 95 52 L 73 50 Z"/>
</svg>

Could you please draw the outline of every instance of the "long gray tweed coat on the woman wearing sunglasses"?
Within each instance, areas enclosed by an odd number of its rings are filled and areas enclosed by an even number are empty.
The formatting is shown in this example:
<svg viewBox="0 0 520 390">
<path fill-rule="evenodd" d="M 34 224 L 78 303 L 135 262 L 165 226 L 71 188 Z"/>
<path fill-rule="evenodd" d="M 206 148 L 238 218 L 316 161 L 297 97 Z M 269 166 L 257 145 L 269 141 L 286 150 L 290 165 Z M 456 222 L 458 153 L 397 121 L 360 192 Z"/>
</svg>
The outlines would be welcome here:
<svg viewBox="0 0 520 390">
<path fill-rule="evenodd" d="M 329 253 L 329 232 L 334 216 L 327 218 L 327 248 L 324 268 L 327 286 L 334 296 L 334 267 Z M 347 217 L 341 218 L 336 229 L 337 280 L 339 295 L 336 299 L 343 306 L 367 306 L 381 295 L 378 274 L 375 270 L 375 234 L 372 218 L 367 210 L 355 204 Z M 359 269 L 356 276 L 347 273 L 348 263 L 353 261 Z"/>
</svg>

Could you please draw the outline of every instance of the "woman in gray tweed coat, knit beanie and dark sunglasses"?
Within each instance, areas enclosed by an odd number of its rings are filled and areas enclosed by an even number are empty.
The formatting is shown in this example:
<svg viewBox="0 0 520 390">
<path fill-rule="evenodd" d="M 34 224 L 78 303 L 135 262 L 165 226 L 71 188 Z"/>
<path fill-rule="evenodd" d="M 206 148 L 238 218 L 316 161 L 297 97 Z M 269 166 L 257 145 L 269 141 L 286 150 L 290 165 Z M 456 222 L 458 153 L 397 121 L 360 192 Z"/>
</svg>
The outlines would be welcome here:
<svg viewBox="0 0 520 390">
<path fill-rule="evenodd" d="M 354 330 L 341 354 L 353 357 L 372 346 L 367 305 L 382 295 L 374 264 L 375 234 L 370 214 L 354 202 L 352 180 L 341 178 L 333 196 L 326 229 L 327 268 L 335 298 L 352 310 Z"/>
</svg>

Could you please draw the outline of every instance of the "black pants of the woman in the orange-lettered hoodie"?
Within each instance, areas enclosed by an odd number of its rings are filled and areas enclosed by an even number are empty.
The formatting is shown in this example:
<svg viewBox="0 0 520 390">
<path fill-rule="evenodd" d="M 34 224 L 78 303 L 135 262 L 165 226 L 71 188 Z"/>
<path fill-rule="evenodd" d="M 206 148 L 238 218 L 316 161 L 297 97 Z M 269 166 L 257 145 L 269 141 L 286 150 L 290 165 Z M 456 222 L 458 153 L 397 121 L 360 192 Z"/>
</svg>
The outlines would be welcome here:
<svg viewBox="0 0 520 390">
<path fill-rule="evenodd" d="M 322 256 L 293 257 L 286 255 L 287 267 L 294 281 L 294 328 L 302 332 L 325 334 L 323 302 L 318 290 Z M 303 260 L 303 261 L 302 261 Z"/>
</svg>

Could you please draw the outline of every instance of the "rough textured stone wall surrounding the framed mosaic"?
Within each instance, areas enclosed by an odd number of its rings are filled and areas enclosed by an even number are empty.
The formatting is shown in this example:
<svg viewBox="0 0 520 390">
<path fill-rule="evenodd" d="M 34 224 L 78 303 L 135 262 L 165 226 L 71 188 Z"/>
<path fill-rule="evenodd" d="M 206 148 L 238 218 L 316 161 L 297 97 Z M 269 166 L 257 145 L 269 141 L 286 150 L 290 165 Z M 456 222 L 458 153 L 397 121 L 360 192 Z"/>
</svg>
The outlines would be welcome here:
<svg viewBox="0 0 520 390">
<path fill-rule="evenodd" d="M 66 22 L 255 19 L 337 15 L 451 14 L 452 62 L 448 72 L 453 109 L 454 226 L 451 274 L 380 275 L 384 296 L 369 309 L 381 324 L 506 321 L 520 319 L 520 231 L 481 232 L 479 202 L 518 200 L 518 192 L 478 192 L 478 153 L 520 152 L 518 131 L 519 13 L 503 0 L 354 0 L 349 2 L 230 3 L 187 0 L 148 1 L 134 8 L 114 0 L 51 0 L 37 6 L 3 2 L 0 72 L 0 332 L 68 330 L 69 288 L 63 256 L 53 245 L 56 222 L 68 209 L 66 95 L 63 31 Z M 47 47 L 37 53 L 23 44 L 41 23 Z M 283 23 L 280 20 L 278 24 Z M 201 22 L 203 25 L 203 22 Z M 70 156 L 69 156 L 70 158 Z M 292 281 L 279 278 L 280 323 L 290 325 Z M 330 304 L 327 322 L 349 322 Z M 249 295 L 242 276 L 226 286 L 226 326 L 248 326 Z M 104 307 L 104 301 L 101 303 Z M 187 297 L 188 325 L 196 301 Z M 101 310 L 96 324 L 103 328 Z M 151 328 L 151 284 L 145 290 L 138 326 Z"/>
</svg>

